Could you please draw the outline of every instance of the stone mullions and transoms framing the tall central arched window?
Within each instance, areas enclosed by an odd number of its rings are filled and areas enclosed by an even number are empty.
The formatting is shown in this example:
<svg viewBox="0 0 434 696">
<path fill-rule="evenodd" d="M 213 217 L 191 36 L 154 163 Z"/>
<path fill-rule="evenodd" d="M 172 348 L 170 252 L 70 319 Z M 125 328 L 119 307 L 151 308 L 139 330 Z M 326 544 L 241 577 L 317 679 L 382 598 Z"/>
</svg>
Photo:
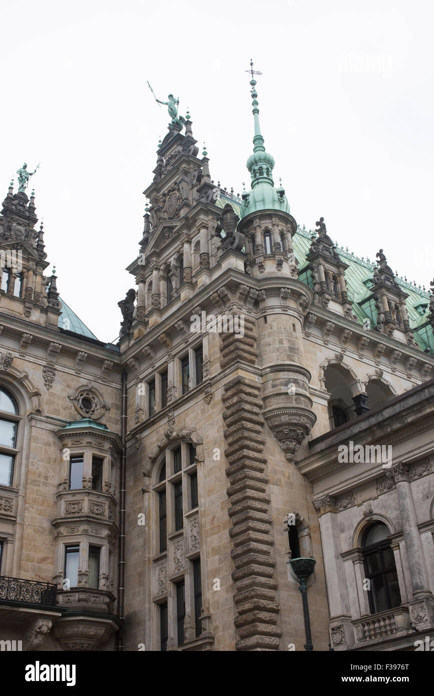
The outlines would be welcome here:
<svg viewBox="0 0 434 696">
<path fill-rule="evenodd" d="M 200 545 L 198 548 L 190 548 L 190 532 L 191 520 L 199 516 L 200 507 L 200 488 L 198 477 L 198 507 L 191 508 L 191 475 L 198 474 L 198 457 L 197 451 L 195 461 L 190 464 L 190 445 L 195 448 L 196 445 L 191 439 L 175 438 L 173 439 L 164 452 L 162 452 L 154 465 L 152 474 L 152 511 L 150 518 L 152 519 L 152 531 L 150 544 L 152 548 L 152 568 L 151 568 L 151 583 L 152 583 L 152 611 L 151 611 L 151 631 L 152 635 L 152 650 L 160 650 L 160 616 L 159 607 L 162 604 L 168 605 L 168 648 L 182 648 L 177 642 L 177 589 L 176 585 L 179 581 L 185 582 L 185 604 L 186 616 L 184 619 L 184 631 L 186 633 L 186 642 L 195 640 L 195 613 L 194 613 L 194 576 L 193 576 L 193 561 L 201 559 Z M 182 469 L 174 473 L 173 452 L 181 446 L 182 448 Z M 161 468 L 166 464 L 166 479 L 159 481 Z M 182 480 L 182 500 L 183 500 L 183 518 L 184 524 L 182 530 L 175 530 L 175 498 L 173 484 Z M 167 548 L 164 551 L 159 551 L 159 493 L 166 490 L 166 537 Z M 170 573 L 170 567 L 175 566 L 175 542 L 183 539 L 182 558 L 183 567 L 177 571 L 174 569 Z M 170 557 L 172 553 L 172 557 Z M 158 593 L 156 585 L 157 567 L 162 562 L 166 561 L 166 591 Z M 202 561 L 202 559 L 201 559 Z M 202 596 L 203 596 L 203 565 L 202 570 Z M 199 639 L 198 639 L 199 640 Z"/>
</svg>

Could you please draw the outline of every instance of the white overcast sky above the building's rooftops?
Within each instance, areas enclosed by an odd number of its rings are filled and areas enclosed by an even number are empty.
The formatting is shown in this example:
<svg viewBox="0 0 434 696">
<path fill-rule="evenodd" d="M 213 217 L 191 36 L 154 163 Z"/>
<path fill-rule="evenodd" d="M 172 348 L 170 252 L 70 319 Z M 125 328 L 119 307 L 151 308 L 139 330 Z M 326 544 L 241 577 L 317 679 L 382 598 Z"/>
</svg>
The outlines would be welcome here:
<svg viewBox="0 0 434 696">
<path fill-rule="evenodd" d="M 339 244 L 371 260 L 381 246 L 428 287 L 433 18 L 428 0 L 3 3 L 3 194 L 23 161 L 31 171 L 41 161 L 31 182 L 58 290 L 113 340 L 168 125 L 146 81 L 160 100 L 179 95 L 211 177 L 238 193 L 252 56 L 266 149 L 296 221 L 314 228 L 322 215 Z"/>
</svg>

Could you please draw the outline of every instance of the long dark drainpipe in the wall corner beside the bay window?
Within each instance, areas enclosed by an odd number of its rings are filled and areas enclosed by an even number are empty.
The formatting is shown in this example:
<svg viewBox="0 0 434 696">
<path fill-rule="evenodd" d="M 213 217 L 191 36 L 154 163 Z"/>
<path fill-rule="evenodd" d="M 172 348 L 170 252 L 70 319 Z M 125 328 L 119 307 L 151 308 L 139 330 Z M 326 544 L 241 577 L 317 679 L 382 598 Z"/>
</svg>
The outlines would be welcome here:
<svg viewBox="0 0 434 696">
<path fill-rule="evenodd" d="M 127 372 L 122 372 L 122 400 L 120 415 L 120 438 L 122 454 L 120 459 L 120 491 L 119 491 L 119 560 L 118 560 L 118 617 L 122 624 L 117 634 L 118 651 L 124 649 L 124 579 L 125 579 L 125 480 L 127 471 Z"/>
</svg>

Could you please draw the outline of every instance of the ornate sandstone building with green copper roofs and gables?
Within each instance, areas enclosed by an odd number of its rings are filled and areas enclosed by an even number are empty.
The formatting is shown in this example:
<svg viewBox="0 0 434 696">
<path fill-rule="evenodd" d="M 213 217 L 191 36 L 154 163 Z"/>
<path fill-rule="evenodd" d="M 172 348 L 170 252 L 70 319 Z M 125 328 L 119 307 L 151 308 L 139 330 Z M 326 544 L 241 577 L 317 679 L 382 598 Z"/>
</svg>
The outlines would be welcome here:
<svg viewBox="0 0 434 696">
<path fill-rule="evenodd" d="M 46 274 L 34 196 L 3 201 L 0 638 L 394 650 L 434 630 L 433 296 L 297 225 L 250 85 L 242 196 L 171 114 L 116 345 Z"/>
</svg>

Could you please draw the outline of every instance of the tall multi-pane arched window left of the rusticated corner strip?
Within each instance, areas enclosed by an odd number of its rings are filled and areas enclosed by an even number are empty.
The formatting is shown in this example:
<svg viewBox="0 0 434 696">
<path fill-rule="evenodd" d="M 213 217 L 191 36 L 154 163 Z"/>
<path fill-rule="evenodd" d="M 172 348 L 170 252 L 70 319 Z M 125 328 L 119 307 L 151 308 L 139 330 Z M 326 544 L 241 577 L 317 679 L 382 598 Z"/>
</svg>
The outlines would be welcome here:
<svg viewBox="0 0 434 696">
<path fill-rule="evenodd" d="M 168 641 L 183 645 L 184 618 L 194 617 L 187 636 L 202 633 L 202 581 L 198 515 L 198 470 L 195 447 L 178 442 L 166 450 L 154 484 L 155 529 L 153 572 L 156 587 L 156 649 L 166 651 Z M 172 576 L 172 580 L 169 577 Z M 188 631 L 187 631 L 188 633 Z"/>
</svg>

